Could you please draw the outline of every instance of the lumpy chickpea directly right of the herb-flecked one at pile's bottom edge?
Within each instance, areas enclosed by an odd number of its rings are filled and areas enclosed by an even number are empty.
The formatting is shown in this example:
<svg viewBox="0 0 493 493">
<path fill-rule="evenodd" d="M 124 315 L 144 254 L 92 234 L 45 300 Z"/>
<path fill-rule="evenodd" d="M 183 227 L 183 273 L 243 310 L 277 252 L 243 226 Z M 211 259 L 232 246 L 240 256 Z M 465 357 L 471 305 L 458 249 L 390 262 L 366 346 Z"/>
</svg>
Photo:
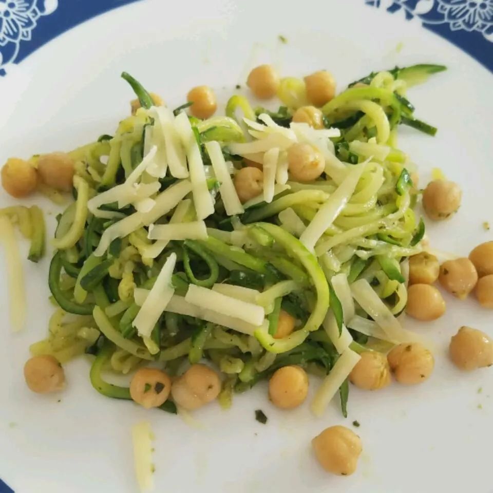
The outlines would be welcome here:
<svg viewBox="0 0 493 493">
<path fill-rule="evenodd" d="M 178 406 L 194 410 L 214 401 L 220 391 L 219 375 L 213 369 L 199 363 L 192 365 L 173 382 L 171 395 Z"/>
</svg>

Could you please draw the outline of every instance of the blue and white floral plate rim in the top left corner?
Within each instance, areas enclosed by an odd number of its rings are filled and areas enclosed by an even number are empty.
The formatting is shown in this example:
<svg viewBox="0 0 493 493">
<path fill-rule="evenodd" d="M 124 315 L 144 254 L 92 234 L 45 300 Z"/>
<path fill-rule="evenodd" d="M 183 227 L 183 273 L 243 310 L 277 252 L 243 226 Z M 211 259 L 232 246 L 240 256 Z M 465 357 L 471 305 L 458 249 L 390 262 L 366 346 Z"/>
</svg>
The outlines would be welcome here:
<svg viewBox="0 0 493 493">
<path fill-rule="evenodd" d="M 91 17 L 138 0 L 0 0 L 0 77 L 12 63 Z"/>
</svg>

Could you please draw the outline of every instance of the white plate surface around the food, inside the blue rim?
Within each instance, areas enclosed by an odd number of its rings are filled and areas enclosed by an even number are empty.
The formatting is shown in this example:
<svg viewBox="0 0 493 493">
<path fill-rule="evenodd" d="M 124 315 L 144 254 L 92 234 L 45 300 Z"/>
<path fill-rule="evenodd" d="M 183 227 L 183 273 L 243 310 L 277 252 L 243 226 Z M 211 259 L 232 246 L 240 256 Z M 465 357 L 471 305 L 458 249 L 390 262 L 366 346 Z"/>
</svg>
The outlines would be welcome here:
<svg viewBox="0 0 493 493">
<path fill-rule="evenodd" d="M 279 34 L 287 44 L 278 41 Z M 447 65 L 447 72 L 409 91 L 416 115 L 439 127 L 437 137 L 402 128 L 400 146 L 419 165 L 422 184 L 437 166 L 463 188 L 457 216 L 429 225 L 433 246 L 467 256 L 476 244 L 492 239 L 482 227 L 484 221 L 493 224 L 491 73 L 419 22 L 359 0 L 146 0 L 94 18 L 9 67 L 0 79 L 0 162 L 68 150 L 111 133 L 131 99 L 119 78 L 122 70 L 176 106 L 194 85 L 233 91 L 248 69 L 262 62 L 274 63 L 286 75 L 327 68 L 339 88 L 395 64 Z M 12 203 L 1 194 L 1 206 Z M 44 205 L 52 212 L 52 226 L 55 207 Z M 27 245 L 21 243 L 24 255 Z M 150 420 L 156 434 L 157 491 L 492 490 L 493 372 L 461 373 L 447 359 L 449 338 L 461 325 L 493 335 L 491 312 L 473 299 L 461 302 L 445 294 L 444 317 L 409 322 L 436 341 L 430 381 L 410 388 L 394 383 L 377 393 L 352 387 L 347 420 L 337 402 L 321 419 L 308 406 L 279 411 L 260 384 L 237 396 L 228 412 L 217 405 L 197 412 L 201 426 L 191 427 L 176 416 L 97 394 L 84 358 L 66 366 L 64 393 L 31 393 L 22 368 L 29 344 L 47 330 L 48 259 L 37 265 L 26 260 L 24 267 L 27 328 L 14 335 L 0 258 L 0 477 L 16 493 L 137 491 L 130 427 L 140 420 Z M 259 408 L 269 418 L 266 425 L 254 419 Z M 358 469 L 347 478 L 327 475 L 310 440 L 327 426 L 351 427 L 353 420 L 361 423 L 357 432 L 364 447 Z"/>
</svg>

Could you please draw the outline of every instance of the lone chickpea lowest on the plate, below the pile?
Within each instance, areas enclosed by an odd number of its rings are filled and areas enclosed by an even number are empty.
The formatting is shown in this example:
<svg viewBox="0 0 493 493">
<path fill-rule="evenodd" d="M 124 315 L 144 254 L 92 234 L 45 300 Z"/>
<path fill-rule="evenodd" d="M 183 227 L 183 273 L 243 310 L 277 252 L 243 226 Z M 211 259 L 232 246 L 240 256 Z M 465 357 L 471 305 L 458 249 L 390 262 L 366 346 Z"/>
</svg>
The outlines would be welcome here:
<svg viewBox="0 0 493 493">
<path fill-rule="evenodd" d="M 320 465 L 328 472 L 349 476 L 356 470 L 363 450 L 361 439 L 345 426 L 326 428 L 312 440 Z"/>
</svg>

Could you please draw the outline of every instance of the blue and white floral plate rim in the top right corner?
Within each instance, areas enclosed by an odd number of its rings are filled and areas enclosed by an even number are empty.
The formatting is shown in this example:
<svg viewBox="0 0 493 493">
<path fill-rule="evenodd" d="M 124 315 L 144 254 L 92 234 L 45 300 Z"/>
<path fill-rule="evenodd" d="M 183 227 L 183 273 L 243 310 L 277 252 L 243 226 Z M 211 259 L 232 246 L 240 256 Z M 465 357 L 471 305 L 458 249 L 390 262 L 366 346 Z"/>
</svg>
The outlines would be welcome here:
<svg viewBox="0 0 493 493">
<path fill-rule="evenodd" d="M 365 0 L 444 37 L 493 72 L 493 0 Z"/>
</svg>

